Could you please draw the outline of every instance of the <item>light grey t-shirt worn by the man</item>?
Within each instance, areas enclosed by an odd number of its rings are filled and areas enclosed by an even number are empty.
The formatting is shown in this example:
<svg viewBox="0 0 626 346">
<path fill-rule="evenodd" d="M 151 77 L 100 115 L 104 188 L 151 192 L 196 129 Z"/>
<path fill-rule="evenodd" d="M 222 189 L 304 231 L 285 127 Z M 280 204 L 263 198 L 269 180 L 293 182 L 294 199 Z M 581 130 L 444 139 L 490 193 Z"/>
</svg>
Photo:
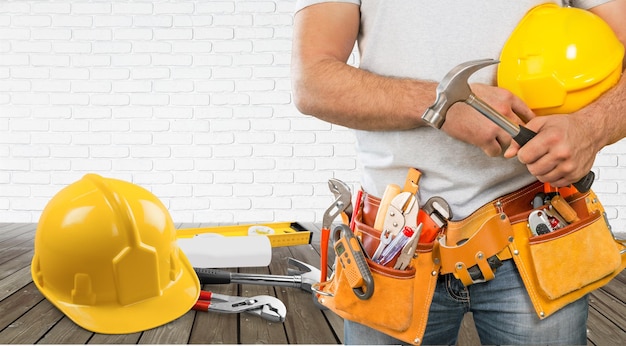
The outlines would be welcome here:
<svg viewBox="0 0 626 346">
<path fill-rule="evenodd" d="M 296 11 L 328 0 L 299 0 Z M 334 0 L 337 2 L 337 0 Z M 360 6 L 359 68 L 385 76 L 440 81 L 469 60 L 498 59 L 519 20 L 545 0 L 340 0 Z M 568 2 L 590 8 L 606 0 Z M 495 84 L 496 66 L 474 73 L 470 82 Z M 443 197 L 454 219 L 536 179 L 517 158 L 491 158 L 475 146 L 424 126 L 408 131 L 356 130 L 361 185 L 376 196 L 407 170 L 422 172 L 420 202 Z"/>
</svg>

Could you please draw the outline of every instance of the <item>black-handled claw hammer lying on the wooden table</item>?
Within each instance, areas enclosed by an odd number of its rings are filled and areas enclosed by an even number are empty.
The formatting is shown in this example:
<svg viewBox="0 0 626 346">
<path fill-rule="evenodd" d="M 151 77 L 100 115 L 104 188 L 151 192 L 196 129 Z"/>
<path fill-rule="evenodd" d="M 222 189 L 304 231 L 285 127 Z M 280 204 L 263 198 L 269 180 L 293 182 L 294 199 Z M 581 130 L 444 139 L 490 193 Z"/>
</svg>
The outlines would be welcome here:
<svg viewBox="0 0 626 346">
<path fill-rule="evenodd" d="M 289 275 L 265 275 L 265 274 L 244 274 L 231 273 L 229 271 L 194 268 L 201 284 L 250 284 L 263 286 L 281 286 L 300 288 L 307 292 L 313 292 L 311 285 L 318 282 L 320 270 L 310 264 L 298 261 L 295 258 L 288 258 L 290 266 L 297 267 L 298 270 L 288 268 Z"/>
</svg>

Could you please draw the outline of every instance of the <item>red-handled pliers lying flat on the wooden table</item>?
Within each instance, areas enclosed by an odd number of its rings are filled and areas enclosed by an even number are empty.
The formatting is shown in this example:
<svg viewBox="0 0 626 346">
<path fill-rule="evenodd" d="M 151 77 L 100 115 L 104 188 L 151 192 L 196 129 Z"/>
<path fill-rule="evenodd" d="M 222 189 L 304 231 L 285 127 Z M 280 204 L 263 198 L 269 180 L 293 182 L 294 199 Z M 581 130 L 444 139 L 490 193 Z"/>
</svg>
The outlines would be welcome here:
<svg viewBox="0 0 626 346">
<path fill-rule="evenodd" d="M 200 291 L 200 297 L 192 309 L 231 314 L 246 312 L 272 322 L 284 322 L 287 315 L 285 304 L 276 297 L 236 297 L 210 291 Z"/>
</svg>

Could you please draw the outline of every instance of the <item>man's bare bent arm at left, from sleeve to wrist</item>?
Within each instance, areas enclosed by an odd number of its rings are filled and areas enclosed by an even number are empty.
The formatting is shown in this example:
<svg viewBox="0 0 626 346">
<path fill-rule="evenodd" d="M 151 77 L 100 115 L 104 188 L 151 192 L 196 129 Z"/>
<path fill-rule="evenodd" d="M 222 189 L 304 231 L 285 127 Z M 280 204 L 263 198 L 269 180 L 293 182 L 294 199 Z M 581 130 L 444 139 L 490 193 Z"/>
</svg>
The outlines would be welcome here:
<svg viewBox="0 0 626 346">
<path fill-rule="evenodd" d="M 359 7 L 324 3 L 295 16 L 292 76 L 305 114 L 363 130 L 410 129 L 435 96 L 434 83 L 389 78 L 346 64 L 359 31 Z"/>
</svg>

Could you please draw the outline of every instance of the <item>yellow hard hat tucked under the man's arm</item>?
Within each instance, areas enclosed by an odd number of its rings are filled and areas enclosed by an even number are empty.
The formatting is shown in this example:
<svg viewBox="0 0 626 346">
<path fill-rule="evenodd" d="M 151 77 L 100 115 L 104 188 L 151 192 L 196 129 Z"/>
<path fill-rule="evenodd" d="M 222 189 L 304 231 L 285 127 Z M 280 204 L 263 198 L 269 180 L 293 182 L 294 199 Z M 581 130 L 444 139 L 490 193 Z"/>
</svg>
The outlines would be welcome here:
<svg viewBox="0 0 626 346">
<path fill-rule="evenodd" d="M 595 14 L 539 5 L 505 43 L 498 86 L 537 115 L 571 113 L 614 86 L 622 73 L 624 45 Z"/>
</svg>

